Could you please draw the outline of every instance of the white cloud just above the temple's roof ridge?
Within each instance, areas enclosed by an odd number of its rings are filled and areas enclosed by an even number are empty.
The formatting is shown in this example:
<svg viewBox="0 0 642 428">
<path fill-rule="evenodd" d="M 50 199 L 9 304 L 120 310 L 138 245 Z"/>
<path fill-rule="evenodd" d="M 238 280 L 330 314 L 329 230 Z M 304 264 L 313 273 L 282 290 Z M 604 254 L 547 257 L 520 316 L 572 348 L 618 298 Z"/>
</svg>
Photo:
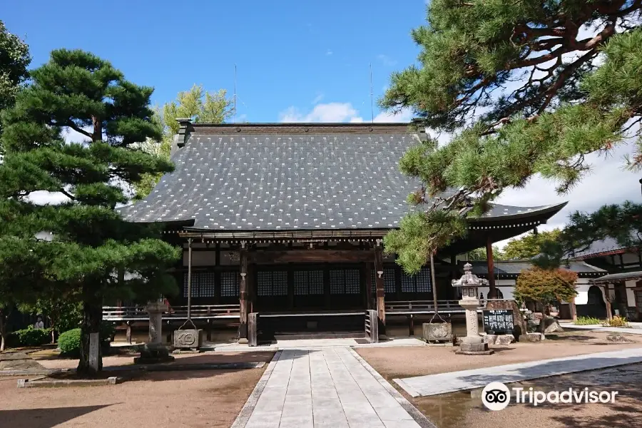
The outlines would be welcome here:
<svg viewBox="0 0 642 428">
<path fill-rule="evenodd" d="M 412 119 L 412 112 L 403 110 L 392 114 L 382 112 L 374 116 L 374 123 L 404 123 Z M 282 111 L 279 115 L 281 122 L 320 122 L 320 123 L 363 123 L 370 122 L 363 118 L 351 103 L 320 103 L 312 108 L 309 113 L 302 113 L 292 106 Z"/>
</svg>

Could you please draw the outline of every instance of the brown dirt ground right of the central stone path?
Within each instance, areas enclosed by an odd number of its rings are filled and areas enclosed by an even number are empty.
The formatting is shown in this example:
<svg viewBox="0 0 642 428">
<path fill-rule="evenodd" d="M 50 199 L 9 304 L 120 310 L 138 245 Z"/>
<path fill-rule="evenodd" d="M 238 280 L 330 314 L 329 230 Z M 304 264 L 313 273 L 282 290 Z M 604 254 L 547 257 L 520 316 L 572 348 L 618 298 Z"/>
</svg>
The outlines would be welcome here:
<svg viewBox="0 0 642 428">
<path fill-rule="evenodd" d="M 642 414 L 642 392 L 639 389 L 642 384 L 642 365 L 521 382 L 526 389 L 534 387 L 544 391 L 561 391 L 569 387 L 618 391 L 614 404 L 549 404 L 538 407 L 510 404 L 499 412 L 487 410 L 481 404 L 481 398 L 473 398 L 470 392 L 412 398 L 392 382 L 397 377 L 492 367 L 642 345 L 642 337 L 635 335 L 625 335 L 633 343 L 607 345 L 606 335 L 603 332 L 564 332 L 541 343 L 519 343 L 506 347 L 491 345 L 496 353 L 479 357 L 457 355 L 454 354 L 454 348 L 439 347 L 360 348 L 357 352 L 439 428 L 638 427 L 639 415 Z"/>
</svg>

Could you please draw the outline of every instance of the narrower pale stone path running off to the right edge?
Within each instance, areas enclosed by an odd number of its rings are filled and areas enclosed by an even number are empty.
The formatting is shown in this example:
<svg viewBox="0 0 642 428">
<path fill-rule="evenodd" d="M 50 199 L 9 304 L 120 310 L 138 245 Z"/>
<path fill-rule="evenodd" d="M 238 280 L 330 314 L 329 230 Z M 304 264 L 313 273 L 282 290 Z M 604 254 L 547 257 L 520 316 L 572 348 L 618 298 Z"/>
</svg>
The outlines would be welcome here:
<svg viewBox="0 0 642 428">
<path fill-rule="evenodd" d="M 577 355 L 518 364 L 394 379 L 411 397 L 483 388 L 490 382 L 520 382 L 558 374 L 597 370 L 642 362 L 642 348 Z"/>
</svg>

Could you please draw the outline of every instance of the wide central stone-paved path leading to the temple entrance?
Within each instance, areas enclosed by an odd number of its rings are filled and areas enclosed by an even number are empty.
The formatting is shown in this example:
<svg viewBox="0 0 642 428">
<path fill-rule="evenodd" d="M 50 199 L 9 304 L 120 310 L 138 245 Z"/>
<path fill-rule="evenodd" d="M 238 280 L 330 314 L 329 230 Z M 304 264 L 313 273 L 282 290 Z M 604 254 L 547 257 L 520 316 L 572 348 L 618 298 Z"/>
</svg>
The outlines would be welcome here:
<svg viewBox="0 0 642 428">
<path fill-rule="evenodd" d="M 419 423 L 418 423 L 419 422 Z M 282 350 L 233 428 L 434 427 L 348 347 Z"/>
</svg>

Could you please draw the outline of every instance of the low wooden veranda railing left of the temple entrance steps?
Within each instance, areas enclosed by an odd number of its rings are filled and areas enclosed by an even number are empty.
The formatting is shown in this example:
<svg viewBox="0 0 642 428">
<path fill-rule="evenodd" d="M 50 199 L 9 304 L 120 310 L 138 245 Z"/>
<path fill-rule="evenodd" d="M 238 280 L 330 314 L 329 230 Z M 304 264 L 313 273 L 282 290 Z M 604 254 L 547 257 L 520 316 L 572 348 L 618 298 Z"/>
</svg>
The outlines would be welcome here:
<svg viewBox="0 0 642 428">
<path fill-rule="evenodd" d="M 239 317 L 240 305 L 192 305 L 191 317 L 195 320 Z M 172 306 L 163 312 L 163 319 L 187 320 L 187 306 Z M 103 306 L 103 320 L 149 320 L 144 305 Z"/>
</svg>

